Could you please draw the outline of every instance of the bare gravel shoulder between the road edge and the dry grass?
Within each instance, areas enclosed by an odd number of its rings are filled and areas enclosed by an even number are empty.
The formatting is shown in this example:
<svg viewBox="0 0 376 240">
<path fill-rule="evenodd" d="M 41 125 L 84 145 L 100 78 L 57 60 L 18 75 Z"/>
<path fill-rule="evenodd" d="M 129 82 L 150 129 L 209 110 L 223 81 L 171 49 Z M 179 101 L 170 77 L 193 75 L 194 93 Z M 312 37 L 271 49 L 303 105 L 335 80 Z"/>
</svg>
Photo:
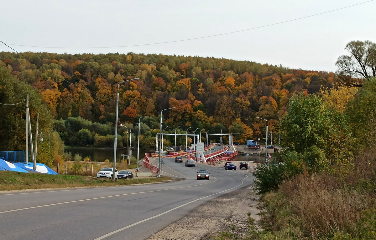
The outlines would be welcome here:
<svg viewBox="0 0 376 240">
<path fill-rule="evenodd" d="M 209 240 L 224 231 L 244 235 L 260 229 L 258 200 L 252 185 L 243 187 L 200 205 L 148 240 Z M 248 217 L 255 220 L 255 226 L 250 226 Z"/>
</svg>

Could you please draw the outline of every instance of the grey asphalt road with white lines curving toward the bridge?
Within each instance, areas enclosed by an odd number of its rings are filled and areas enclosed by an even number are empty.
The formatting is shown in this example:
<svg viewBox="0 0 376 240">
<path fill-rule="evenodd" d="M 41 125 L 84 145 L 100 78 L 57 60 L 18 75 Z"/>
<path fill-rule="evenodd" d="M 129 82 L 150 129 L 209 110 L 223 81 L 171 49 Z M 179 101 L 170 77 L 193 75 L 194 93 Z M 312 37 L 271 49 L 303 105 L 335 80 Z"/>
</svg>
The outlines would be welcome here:
<svg viewBox="0 0 376 240">
<path fill-rule="evenodd" d="M 253 183 L 247 170 L 186 167 L 163 158 L 180 181 L 134 186 L 0 192 L 0 239 L 147 239 L 204 202 Z M 208 169 L 210 180 L 197 180 Z M 126 181 L 126 180 L 125 180 Z M 199 227 L 199 223 L 197 223 Z"/>
</svg>

